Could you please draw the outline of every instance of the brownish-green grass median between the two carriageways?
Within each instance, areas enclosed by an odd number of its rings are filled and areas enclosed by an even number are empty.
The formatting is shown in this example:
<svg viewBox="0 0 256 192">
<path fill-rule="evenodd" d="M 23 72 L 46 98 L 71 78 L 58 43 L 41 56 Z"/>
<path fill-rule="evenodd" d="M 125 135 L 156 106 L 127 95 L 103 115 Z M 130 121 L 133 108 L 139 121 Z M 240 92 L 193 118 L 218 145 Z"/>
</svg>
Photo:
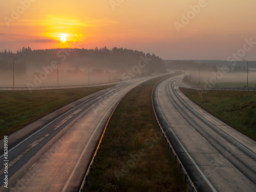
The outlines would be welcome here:
<svg viewBox="0 0 256 192">
<path fill-rule="evenodd" d="M 151 106 L 159 79 L 127 94 L 110 122 L 86 191 L 187 191 Z"/>
</svg>

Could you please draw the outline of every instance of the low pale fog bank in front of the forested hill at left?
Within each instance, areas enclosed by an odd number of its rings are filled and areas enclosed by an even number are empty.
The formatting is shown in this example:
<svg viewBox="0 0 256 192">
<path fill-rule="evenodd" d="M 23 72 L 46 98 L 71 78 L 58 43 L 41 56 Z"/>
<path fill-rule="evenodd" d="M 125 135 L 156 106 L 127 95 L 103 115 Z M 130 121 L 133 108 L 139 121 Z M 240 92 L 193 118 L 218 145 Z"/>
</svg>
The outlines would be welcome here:
<svg viewBox="0 0 256 192">
<path fill-rule="evenodd" d="M 68 63 L 67 63 L 68 64 Z M 49 70 L 51 71 L 51 70 Z M 32 87 L 45 87 L 45 86 L 75 86 L 75 85 L 88 85 L 116 82 L 120 80 L 127 80 L 129 76 L 124 70 L 118 69 L 94 69 L 90 66 L 90 73 L 87 70 L 67 68 L 65 65 L 59 65 L 58 74 L 57 70 L 54 69 L 49 74 L 43 70 L 40 72 L 33 72 L 32 74 L 22 74 L 15 70 L 14 81 L 15 87 L 27 87 L 28 83 L 33 84 Z M 146 75 L 147 73 L 143 70 L 134 74 L 135 77 Z M 125 77 L 125 78 L 123 78 Z M 5 72 L 5 75 L 1 75 L 0 87 L 12 87 L 13 86 L 13 72 Z"/>
</svg>

